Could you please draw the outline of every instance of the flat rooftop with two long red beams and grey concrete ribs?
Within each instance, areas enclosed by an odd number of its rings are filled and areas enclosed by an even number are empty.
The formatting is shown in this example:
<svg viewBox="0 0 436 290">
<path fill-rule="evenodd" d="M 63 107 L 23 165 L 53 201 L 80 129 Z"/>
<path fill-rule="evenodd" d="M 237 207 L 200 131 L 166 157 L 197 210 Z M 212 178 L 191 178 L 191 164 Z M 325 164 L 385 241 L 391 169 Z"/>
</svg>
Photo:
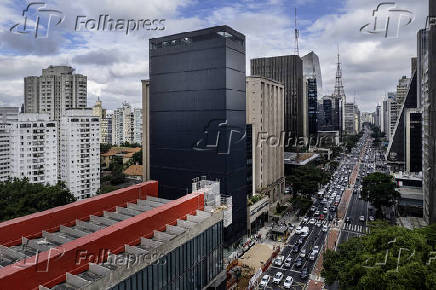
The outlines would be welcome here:
<svg viewBox="0 0 436 290">
<path fill-rule="evenodd" d="M 107 289 L 223 218 L 202 192 L 166 200 L 157 188 L 149 181 L 0 223 L 0 289 Z"/>
</svg>

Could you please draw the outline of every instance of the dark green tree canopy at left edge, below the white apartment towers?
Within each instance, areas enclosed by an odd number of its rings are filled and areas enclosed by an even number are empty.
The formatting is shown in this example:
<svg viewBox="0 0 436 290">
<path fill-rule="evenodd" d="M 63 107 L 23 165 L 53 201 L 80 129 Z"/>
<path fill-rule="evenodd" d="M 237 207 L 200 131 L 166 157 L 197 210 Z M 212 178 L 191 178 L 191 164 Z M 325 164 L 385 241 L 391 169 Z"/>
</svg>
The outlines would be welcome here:
<svg viewBox="0 0 436 290">
<path fill-rule="evenodd" d="M 44 211 L 75 201 L 65 183 L 55 186 L 30 183 L 27 178 L 0 183 L 0 221 Z"/>
</svg>

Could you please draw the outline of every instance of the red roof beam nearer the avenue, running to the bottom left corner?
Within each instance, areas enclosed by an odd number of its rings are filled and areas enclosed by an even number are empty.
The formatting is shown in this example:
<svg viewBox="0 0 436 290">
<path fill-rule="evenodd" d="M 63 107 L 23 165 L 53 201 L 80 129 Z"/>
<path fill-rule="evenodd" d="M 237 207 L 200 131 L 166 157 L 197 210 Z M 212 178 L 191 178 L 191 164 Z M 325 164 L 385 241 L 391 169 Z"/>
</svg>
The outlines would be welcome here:
<svg viewBox="0 0 436 290">
<path fill-rule="evenodd" d="M 53 287 L 65 281 L 67 272 L 78 274 L 88 269 L 89 262 L 78 257 L 98 257 L 102 250 L 112 253 L 124 251 L 124 245 L 136 245 L 141 237 L 151 237 L 153 230 L 164 230 L 166 224 L 175 224 L 178 218 L 204 209 L 203 193 L 193 193 L 163 206 L 144 212 L 115 225 L 57 247 L 57 253 L 43 252 L 35 265 L 17 264 L 0 269 L 0 289 L 37 289 L 39 285 Z M 55 255 L 57 254 L 57 255 Z M 106 256 L 104 257 L 104 259 Z M 48 269 L 48 271 L 46 271 Z"/>
</svg>

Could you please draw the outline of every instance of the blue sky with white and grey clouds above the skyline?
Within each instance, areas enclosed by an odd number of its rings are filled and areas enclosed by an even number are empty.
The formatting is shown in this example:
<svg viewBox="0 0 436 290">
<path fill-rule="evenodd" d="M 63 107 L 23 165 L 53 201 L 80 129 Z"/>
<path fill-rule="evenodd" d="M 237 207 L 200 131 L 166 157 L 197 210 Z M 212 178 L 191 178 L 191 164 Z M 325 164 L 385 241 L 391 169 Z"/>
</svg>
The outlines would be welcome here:
<svg viewBox="0 0 436 290">
<path fill-rule="evenodd" d="M 148 39 L 214 25 L 229 25 L 247 38 L 249 59 L 294 52 L 293 11 L 297 8 L 300 55 L 318 54 L 325 94 L 334 88 L 339 46 L 343 81 L 348 99 L 356 99 L 361 111 L 374 111 L 385 92 L 395 90 L 402 75 L 410 75 L 410 58 L 416 56 L 416 32 L 424 27 L 429 0 L 397 0 L 399 9 L 414 13 L 414 21 L 393 15 L 400 26 L 398 37 L 361 33 L 373 23 L 373 9 L 380 0 L 47 0 L 46 9 L 63 13 L 52 17 L 48 37 L 34 37 L 36 14 L 29 10 L 29 33 L 11 33 L 21 24 L 23 10 L 35 1 L 2 0 L 0 3 L 0 106 L 23 103 L 23 78 L 40 75 L 48 65 L 70 65 L 88 76 L 88 105 L 100 96 L 104 107 L 114 109 L 122 101 L 141 106 L 140 80 L 148 78 Z M 386 2 L 386 1 L 385 1 Z M 33 6 L 37 7 L 37 6 Z M 38 7 L 37 7 L 38 8 Z M 55 13 L 56 14 L 56 13 Z M 126 35 L 115 31 L 86 31 L 80 19 L 165 19 L 165 30 L 138 30 Z M 40 11 L 40 36 L 47 21 Z M 391 14 L 392 15 L 392 14 Z M 399 19 L 399 20 L 398 20 Z M 391 31 L 396 31 L 391 26 Z M 16 31 L 16 30 L 14 30 Z"/>
</svg>

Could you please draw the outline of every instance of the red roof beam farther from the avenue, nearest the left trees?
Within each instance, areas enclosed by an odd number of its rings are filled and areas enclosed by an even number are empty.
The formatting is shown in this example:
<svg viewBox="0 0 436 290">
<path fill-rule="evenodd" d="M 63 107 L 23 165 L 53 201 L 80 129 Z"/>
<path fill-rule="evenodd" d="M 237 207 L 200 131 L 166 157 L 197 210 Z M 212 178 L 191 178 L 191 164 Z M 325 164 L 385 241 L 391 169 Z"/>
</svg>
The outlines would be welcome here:
<svg viewBox="0 0 436 290">
<path fill-rule="evenodd" d="M 103 211 L 113 211 L 116 206 L 124 206 L 127 202 L 145 199 L 147 195 L 158 196 L 157 181 L 136 184 L 108 194 L 12 219 L 0 223 L 0 244 L 19 245 L 21 237 L 35 238 L 41 236 L 43 230 L 57 231 L 60 225 L 74 225 L 76 219 L 88 220 L 90 215 L 102 215 Z"/>
</svg>

